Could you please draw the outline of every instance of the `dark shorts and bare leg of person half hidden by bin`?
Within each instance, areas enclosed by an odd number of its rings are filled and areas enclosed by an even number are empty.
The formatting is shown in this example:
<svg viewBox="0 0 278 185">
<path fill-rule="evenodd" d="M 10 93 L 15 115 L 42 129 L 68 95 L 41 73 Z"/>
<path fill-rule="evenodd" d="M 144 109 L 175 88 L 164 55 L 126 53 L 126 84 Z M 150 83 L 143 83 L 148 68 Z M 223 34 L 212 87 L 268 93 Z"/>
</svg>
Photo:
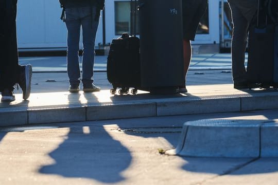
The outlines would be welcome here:
<svg viewBox="0 0 278 185">
<path fill-rule="evenodd" d="M 207 0 L 183 0 L 183 63 L 184 63 L 184 79 L 189 68 L 192 55 L 191 41 L 195 40 L 195 35 L 199 26 L 201 17 L 207 8 Z M 184 80 L 184 81 L 185 81 Z M 180 93 L 186 93 L 184 86 L 179 87 Z"/>
</svg>

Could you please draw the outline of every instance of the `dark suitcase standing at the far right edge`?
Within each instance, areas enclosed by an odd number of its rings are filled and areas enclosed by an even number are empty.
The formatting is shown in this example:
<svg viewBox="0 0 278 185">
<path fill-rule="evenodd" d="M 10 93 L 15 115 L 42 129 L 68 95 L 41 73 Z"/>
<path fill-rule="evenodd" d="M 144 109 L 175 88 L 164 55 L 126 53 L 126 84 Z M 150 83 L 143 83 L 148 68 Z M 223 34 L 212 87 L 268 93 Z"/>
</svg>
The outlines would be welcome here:
<svg viewBox="0 0 278 185">
<path fill-rule="evenodd" d="M 266 1 L 258 0 L 256 23 L 250 25 L 247 78 L 250 88 L 277 87 L 274 82 L 275 25 L 269 19 Z M 275 73 L 274 73 L 275 72 Z"/>
</svg>

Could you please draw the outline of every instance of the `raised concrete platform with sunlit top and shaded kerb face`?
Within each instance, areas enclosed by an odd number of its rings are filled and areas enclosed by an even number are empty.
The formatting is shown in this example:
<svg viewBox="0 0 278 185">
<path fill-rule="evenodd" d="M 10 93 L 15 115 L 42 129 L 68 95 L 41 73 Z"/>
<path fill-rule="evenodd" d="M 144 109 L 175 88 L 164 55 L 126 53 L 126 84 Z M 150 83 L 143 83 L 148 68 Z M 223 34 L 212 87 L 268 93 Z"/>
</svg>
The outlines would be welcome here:
<svg viewBox="0 0 278 185">
<path fill-rule="evenodd" d="M 0 126 L 171 116 L 188 114 L 241 112 L 278 108 L 278 91 L 236 90 L 232 84 L 188 86 L 186 94 L 111 95 L 68 92 L 35 93 L 23 101 L 0 103 Z"/>
</svg>

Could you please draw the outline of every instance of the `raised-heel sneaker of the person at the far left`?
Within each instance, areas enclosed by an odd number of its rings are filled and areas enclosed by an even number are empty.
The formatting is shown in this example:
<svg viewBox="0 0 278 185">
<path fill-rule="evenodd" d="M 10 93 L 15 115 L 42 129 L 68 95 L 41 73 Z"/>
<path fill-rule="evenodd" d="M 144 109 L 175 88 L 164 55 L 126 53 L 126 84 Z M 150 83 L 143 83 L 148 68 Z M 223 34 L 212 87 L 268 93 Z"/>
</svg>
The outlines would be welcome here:
<svg viewBox="0 0 278 185">
<path fill-rule="evenodd" d="M 27 100 L 31 92 L 31 78 L 32 78 L 32 66 L 27 64 L 21 67 L 19 85 L 22 89 L 24 100 Z"/>
</svg>

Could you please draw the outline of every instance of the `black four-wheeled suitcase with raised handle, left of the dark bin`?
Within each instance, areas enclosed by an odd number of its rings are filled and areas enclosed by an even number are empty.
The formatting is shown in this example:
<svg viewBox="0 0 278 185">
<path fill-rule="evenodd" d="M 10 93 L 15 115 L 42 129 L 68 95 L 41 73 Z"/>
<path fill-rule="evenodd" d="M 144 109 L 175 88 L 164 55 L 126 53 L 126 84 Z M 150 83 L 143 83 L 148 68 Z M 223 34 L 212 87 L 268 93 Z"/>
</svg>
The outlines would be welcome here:
<svg viewBox="0 0 278 185">
<path fill-rule="evenodd" d="M 129 88 L 133 95 L 141 86 L 140 41 L 136 37 L 134 17 L 136 16 L 136 0 L 131 4 L 131 35 L 123 33 L 118 39 L 113 39 L 107 59 L 107 79 L 113 85 L 110 90 L 115 94 L 119 87 L 120 95 L 128 94 Z M 136 20 L 135 20 L 136 21 Z"/>
</svg>

